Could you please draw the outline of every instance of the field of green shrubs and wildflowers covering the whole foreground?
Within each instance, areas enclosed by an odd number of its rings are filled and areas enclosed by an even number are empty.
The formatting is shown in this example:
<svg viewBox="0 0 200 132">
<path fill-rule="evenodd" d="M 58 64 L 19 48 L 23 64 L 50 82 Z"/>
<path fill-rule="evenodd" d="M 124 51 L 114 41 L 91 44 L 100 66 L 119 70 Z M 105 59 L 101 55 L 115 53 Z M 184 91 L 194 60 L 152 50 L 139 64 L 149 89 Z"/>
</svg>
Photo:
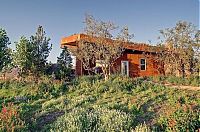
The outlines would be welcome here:
<svg viewBox="0 0 200 132">
<path fill-rule="evenodd" d="M 197 131 L 200 91 L 150 80 L 87 76 L 70 83 L 1 81 L 0 131 Z M 5 117 L 8 112 L 13 114 Z"/>
</svg>

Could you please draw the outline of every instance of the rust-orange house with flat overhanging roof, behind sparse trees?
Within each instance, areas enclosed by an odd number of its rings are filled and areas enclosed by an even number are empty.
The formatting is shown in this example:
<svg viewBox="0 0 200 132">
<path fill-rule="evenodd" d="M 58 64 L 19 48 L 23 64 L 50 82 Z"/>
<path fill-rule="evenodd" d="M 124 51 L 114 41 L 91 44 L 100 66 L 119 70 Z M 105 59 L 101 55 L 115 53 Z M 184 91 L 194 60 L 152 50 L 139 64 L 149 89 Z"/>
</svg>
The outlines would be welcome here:
<svg viewBox="0 0 200 132">
<path fill-rule="evenodd" d="M 76 48 L 80 40 L 86 40 L 88 36 L 85 34 L 75 34 L 61 40 L 61 48 L 67 46 L 70 49 Z M 92 41 L 86 40 L 86 41 Z M 125 51 L 122 56 L 115 61 L 115 65 L 112 69 L 115 72 L 127 75 L 130 77 L 139 76 L 155 76 L 163 72 L 162 68 L 156 61 L 156 52 L 151 50 L 151 47 L 147 44 L 141 43 L 126 43 L 124 44 Z M 96 62 L 98 65 L 98 62 Z M 80 76 L 87 74 L 84 70 L 80 60 L 75 60 L 75 74 Z"/>
</svg>

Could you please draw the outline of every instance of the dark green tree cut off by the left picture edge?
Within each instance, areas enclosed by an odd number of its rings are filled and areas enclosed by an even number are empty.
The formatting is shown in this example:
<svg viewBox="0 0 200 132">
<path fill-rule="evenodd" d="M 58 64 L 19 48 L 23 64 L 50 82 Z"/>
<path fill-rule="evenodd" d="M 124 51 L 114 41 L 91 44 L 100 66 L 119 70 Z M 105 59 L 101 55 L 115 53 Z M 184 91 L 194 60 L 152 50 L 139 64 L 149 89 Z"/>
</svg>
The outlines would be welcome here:
<svg viewBox="0 0 200 132">
<path fill-rule="evenodd" d="M 0 72 L 7 69 L 6 67 L 11 63 L 11 50 L 8 48 L 10 44 L 7 33 L 0 28 Z"/>
</svg>

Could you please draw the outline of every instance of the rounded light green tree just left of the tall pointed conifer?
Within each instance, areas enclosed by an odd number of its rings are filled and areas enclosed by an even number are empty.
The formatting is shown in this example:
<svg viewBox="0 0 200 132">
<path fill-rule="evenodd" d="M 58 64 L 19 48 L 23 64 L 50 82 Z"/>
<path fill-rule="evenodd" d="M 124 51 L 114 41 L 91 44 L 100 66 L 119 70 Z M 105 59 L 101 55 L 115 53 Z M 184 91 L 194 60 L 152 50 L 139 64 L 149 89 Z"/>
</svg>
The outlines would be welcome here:
<svg viewBox="0 0 200 132">
<path fill-rule="evenodd" d="M 32 72 L 33 47 L 30 41 L 22 36 L 19 42 L 16 42 L 16 51 L 13 54 L 14 64 L 19 68 L 19 75 L 25 77 Z"/>
</svg>

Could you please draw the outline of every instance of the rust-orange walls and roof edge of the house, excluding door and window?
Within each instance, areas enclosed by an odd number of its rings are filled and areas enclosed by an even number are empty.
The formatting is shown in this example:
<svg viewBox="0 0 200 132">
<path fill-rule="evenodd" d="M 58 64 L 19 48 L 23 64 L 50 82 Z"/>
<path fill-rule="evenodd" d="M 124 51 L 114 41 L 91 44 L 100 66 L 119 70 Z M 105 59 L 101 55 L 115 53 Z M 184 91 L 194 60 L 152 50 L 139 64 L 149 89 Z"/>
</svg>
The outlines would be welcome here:
<svg viewBox="0 0 200 132">
<path fill-rule="evenodd" d="M 81 39 L 86 39 L 89 41 L 95 41 L 95 38 L 88 37 L 84 34 L 76 34 L 61 40 L 61 47 L 67 46 L 69 49 L 76 48 L 77 42 Z M 112 41 L 112 40 L 111 40 Z M 145 52 L 151 52 L 149 45 L 146 44 L 125 44 L 126 52 L 123 53 L 121 57 L 116 60 L 115 65 L 111 68 L 113 73 L 121 72 L 121 61 L 129 61 L 129 76 L 139 77 L 139 76 L 155 76 L 159 75 L 158 65 L 154 59 L 154 55 L 146 57 L 143 54 Z M 140 69 L 140 59 L 146 59 L 146 70 Z M 163 68 L 164 69 L 164 68 Z M 84 75 L 88 72 L 84 70 L 80 60 L 76 60 L 76 75 Z M 164 72 L 163 72 L 164 73 Z M 163 74 L 162 73 L 162 74 Z"/>
</svg>

